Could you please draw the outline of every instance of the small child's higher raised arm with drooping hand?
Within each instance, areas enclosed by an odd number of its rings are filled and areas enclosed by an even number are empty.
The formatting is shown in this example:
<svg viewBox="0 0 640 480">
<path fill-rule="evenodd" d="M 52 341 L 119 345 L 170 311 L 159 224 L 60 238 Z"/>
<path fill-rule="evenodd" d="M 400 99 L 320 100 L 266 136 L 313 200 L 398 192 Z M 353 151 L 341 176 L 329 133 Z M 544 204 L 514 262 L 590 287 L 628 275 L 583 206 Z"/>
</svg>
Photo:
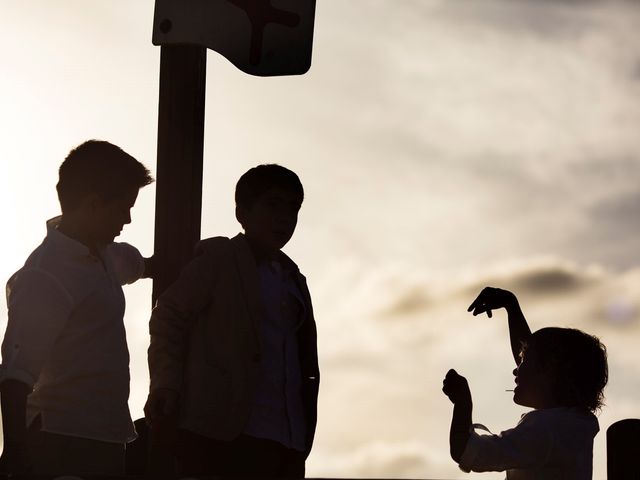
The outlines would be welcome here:
<svg viewBox="0 0 640 480">
<path fill-rule="evenodd" d="M 531 329 L 524 318 L 524 313 L 520 308 L 516 296 L 508 290 L 501 288 L 486 287 L 480 295 L 473 301 L 468 312 L 473 310 L 473 315 L 479 315 L 487 312 L 491 318 L 492 310 L 504 308 L 507 310 L 507 318 L 509 321 L 509 338 L 511 340 L 511 353 L 516 365 L 520 365 L 520 349 L 522 344 L 529 339 Z"/>
</svg>

